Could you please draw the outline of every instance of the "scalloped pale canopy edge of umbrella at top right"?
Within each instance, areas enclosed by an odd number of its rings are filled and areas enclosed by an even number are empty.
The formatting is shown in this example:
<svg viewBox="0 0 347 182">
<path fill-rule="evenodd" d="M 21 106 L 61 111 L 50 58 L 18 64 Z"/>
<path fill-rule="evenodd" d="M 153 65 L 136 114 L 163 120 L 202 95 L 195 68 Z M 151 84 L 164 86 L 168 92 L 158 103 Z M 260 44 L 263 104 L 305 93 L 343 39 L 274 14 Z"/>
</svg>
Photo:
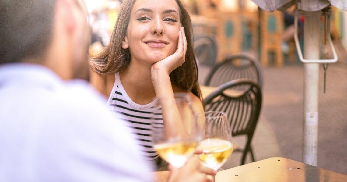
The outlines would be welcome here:
<svg viewBox="0 0 347 182">
<path fill-rule="evenodd" d="M 273 11 L 275 9 L 286 9 L 294 4 L 294 0 L 252 0 L 261 9 Z M 339 9 L 347 11 L 347 0 L 301 0 L 301 10 L 303 11 L 319 11 L 329 6 L 335 6 Z"/>
</svg>

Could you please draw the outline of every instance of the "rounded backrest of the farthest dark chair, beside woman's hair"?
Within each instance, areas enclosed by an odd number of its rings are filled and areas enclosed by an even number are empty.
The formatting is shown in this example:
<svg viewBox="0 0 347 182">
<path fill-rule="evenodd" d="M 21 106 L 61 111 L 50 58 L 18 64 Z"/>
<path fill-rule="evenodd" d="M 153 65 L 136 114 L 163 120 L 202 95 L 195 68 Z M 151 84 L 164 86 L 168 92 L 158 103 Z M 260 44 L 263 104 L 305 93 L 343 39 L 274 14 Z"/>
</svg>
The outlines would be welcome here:
<svg viewBox="0 0 347 182">
<path fill-rule="evenodd" d="M 199 36 L 194 40 L 194 53 L 199 64 L 213 66 L 217 60 L 217 42 L 213 35 Z"/>
</svg>

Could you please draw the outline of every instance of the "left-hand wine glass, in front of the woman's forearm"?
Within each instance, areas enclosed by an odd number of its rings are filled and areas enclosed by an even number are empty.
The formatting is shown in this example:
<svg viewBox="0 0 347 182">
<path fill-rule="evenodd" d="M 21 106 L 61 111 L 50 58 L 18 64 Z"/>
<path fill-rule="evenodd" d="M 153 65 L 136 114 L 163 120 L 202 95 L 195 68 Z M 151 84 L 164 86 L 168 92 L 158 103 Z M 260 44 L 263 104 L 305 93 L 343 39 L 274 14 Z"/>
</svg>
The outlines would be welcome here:
<svg viewBox="0 0 347 182">
<path fill-rule="evenodd" d="M 176 168 L 193 156 L 201 139 L 192 103 L 187 93 L 172 98 L 156 98 L 152 121 L 152 141 L 159 156 Z M 200 128 L 200 129 L 199 129 Z"/>
</svg>

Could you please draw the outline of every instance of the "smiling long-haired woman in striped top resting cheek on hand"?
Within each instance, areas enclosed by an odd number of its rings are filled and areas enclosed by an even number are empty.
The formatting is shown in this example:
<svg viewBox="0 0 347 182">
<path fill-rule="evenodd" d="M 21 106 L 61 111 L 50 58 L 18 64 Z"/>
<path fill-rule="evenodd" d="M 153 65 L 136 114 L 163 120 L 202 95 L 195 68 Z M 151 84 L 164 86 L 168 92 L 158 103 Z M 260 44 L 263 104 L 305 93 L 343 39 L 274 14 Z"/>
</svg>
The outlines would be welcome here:
<svg viewBox="0 0 347 182">
<path fill-rule="evenodd" d="M 186 132 L 187 123 L 172 119 L 179 115 L 172 107 L 175 92 L 188 93 L 195 112 L 203 111 L 192 46 L 191 20 L 179 0 L 125 0 L 110 43 L 91 59 L 91 83 L 134 129 L 150 160 L 158 158 L 148 130 L 154 97 L 165 98 L 161 122 L 166 128 Z"/>
</svg>

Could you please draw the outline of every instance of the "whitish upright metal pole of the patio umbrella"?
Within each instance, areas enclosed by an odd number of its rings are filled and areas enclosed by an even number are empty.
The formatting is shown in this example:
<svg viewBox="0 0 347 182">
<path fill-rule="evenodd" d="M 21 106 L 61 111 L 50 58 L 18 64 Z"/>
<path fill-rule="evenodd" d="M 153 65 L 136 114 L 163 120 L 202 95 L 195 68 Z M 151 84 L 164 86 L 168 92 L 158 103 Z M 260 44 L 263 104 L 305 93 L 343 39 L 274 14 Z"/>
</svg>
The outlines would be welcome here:
<svg viewBox="0 0 347 182">
<path fill-rule="evenodd" d="M 304 58 L 319 59 L 321 12 L 305 13 Z M 319 64 L 305 63 L 303 162 L 317 166 Z"/>
</svg>

